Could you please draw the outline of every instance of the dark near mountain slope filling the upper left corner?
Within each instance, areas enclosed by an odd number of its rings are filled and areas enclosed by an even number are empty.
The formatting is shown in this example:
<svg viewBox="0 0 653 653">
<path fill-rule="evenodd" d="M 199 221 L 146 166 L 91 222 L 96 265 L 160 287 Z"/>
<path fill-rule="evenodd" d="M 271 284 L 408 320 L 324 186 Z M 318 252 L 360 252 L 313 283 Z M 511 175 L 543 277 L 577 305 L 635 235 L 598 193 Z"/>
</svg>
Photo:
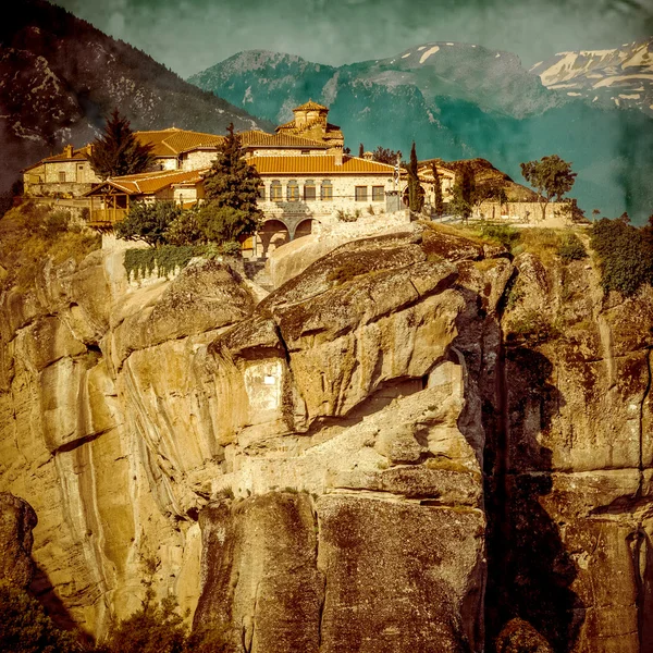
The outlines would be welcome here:
<svg viewBox="0 0 653 653">
<path fill-rule="evenodd" d="M 96 137 L 118 107 L 136 130 L 270 127 L 64 9 L 22 0 L 0 23 L 0 189 L 21 168 Z"/>
</svg>

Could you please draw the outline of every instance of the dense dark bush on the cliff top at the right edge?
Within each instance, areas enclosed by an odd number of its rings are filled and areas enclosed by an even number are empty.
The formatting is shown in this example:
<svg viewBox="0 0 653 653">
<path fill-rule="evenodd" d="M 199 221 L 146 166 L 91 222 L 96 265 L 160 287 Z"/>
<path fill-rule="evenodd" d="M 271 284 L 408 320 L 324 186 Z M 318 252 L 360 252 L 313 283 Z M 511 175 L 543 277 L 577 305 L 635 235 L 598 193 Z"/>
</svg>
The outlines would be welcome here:
<svg viewBox="0 0 653 653">
<path fill-rule="evenodd" d="M 637 229 L 625 220 L 603 218 L 592 226 L 591 247 L 599 256 L 601 284 L 605 293 L 618 291 L 627 297 L 653 281 L 651 227 Z"/>
</svg>

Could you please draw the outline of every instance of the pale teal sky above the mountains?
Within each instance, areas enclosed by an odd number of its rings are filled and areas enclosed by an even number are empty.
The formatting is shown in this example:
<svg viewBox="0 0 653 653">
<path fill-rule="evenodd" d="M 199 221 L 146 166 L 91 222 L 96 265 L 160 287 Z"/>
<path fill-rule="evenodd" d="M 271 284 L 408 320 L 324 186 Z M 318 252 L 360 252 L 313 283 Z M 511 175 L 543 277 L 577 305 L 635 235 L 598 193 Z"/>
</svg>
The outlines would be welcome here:
<svg viewBox="0 0 653 653">
<path fill-rule="evenodd" d="M 653 35 L 651 0 L 57 0 L 187 77 L 241 50 L 340 65 L 427 41 L 555 52 Z"/>
</svg>

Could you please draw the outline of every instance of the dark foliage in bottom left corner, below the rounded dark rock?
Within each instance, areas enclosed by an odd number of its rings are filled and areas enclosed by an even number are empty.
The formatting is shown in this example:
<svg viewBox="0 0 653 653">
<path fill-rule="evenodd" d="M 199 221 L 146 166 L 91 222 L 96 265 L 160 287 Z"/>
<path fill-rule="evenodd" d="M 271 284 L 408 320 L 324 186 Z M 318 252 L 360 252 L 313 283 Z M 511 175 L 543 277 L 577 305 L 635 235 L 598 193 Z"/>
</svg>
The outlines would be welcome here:
<svg viewBox="0 0 653 653">
<path fill-rule="evenodd" d="M 76 653 L 86 650 L 73 633 L 54 626 L 36 599 L 0 581 L 0 651 Z"/>
</svg>

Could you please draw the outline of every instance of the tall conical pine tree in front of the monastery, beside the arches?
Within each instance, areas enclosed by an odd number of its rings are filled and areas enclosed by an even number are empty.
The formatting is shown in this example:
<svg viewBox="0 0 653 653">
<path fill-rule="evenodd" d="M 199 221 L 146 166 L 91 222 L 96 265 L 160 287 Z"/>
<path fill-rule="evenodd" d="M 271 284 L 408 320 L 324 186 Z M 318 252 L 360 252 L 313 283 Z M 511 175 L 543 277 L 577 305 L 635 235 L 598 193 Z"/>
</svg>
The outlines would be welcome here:
<svg viewBox="0 0 653 653">
<path fill-rule="evenodd" d="M 198 222 L 209 239 L 236 241 L 258 229 L 263 218 L 257 206 L 260 184 L 256 168 L 243 158 L 241 137 L 232 123 L 204 182 L 209 201 L 200 210 Z"/>
</svg>

